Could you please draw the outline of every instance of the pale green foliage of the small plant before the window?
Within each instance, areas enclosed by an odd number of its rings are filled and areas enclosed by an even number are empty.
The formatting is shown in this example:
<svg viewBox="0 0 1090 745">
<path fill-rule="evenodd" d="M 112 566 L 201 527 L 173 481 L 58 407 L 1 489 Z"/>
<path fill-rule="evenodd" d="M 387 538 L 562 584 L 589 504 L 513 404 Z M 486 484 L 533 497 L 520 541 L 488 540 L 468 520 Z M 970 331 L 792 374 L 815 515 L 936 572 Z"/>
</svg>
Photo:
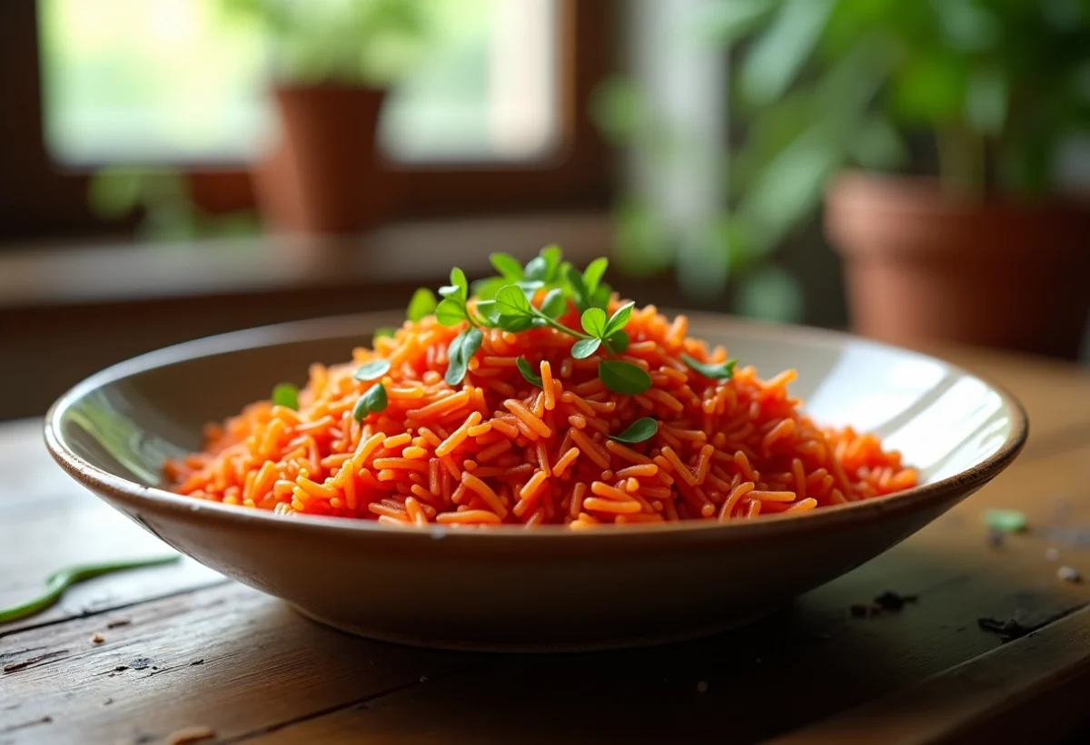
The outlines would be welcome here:
<svg viewBox="0 0 1090 745">
<path fill-rule="evenodd" d="M 429 36 L 426 0 L 226 0 L 272 41 L 277 74 L 300 84 L 388 87 Z"/>
</svg>

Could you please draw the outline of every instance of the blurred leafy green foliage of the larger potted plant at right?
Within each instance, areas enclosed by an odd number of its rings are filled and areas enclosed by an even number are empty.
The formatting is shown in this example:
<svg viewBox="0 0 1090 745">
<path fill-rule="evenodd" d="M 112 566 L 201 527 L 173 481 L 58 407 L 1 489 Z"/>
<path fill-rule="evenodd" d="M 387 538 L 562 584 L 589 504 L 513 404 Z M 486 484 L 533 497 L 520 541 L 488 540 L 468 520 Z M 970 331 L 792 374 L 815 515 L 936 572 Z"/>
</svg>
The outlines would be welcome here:
<svg viewBox="0 0 1090 745">
<path fill-rule="evenodd" d="M 693 292 L 729 272 L 746 313 L 799 313 L 797 282 L 768 258 L 815 216 L 838 170 L 1033 196 L 1055 187 L 1067 136 L 1090 130 L 1090 0 L 719 0 L 687 29 L 689 44 L 731 54 L 731 125 L 743 136 L 724 171 L 726 204 L 681 234 L 623 197 L 618 259 L 638 273 L 676 264 Z M 651 169 L 694 157 L 630 81 L 601 87 L 591 110 Z"/>
</svg>

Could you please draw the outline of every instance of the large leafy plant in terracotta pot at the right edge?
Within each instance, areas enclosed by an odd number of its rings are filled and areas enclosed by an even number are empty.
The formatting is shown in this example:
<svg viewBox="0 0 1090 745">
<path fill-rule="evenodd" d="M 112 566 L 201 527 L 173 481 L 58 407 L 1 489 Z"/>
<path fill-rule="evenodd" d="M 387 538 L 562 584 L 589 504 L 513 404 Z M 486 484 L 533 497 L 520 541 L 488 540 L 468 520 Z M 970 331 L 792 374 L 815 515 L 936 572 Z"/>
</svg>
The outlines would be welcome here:
<svg viewBox="0 0 1090 745">
<path fill-rule="evenodd" d="M 1058 166 L 1090 130 L 1090 2 L 735 0 L 714 24 L 750 253 L 824 196 L 857 331 L 1077 355 L 1090 206 Z"/>
</svg>

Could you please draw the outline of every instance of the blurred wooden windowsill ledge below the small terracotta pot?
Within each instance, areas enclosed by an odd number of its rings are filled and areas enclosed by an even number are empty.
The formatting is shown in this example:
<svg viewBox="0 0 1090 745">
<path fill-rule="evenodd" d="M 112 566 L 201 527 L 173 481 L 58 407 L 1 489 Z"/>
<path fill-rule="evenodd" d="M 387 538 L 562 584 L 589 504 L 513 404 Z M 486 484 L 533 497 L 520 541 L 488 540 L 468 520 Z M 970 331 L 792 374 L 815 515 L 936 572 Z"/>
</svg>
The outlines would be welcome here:
<svg viewBox="0 0 1090 745">
<path fill-rule="evenodd" d="M 576 264 L 609 253 L 602 211 L 460 218 L 385 225 L 352 237 L 264 235 L 193 243 L 0 247 L 0 308 L 94 305 L 282 290 L 438 283 L 488 255 L 529 260 L 557 243 Z"/>
</svg>

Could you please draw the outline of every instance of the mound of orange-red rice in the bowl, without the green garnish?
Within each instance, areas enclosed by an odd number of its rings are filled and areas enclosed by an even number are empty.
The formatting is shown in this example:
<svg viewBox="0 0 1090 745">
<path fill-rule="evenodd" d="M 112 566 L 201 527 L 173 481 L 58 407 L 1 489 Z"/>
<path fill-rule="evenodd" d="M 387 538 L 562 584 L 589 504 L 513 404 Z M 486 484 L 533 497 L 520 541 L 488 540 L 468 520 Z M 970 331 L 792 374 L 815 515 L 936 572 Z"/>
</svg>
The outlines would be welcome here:
<svg viewBox="0 0 1090 745">
<path fill-rule="evenodd" d="M 580 328 L 574 308 L 560 320 Z M 166 475 L 179 493 L 282 515 L 573 529 L 751 520 L 915 486 L 917 473 L 875 437 L 800 413 L 787 390 L 794 370 L 762 380 L 739 366 L 716 381 L 690 369 L 682 353 L 723 362 L 727 351 L 688 338 L 687 327 L 685 316 L 633 309 L 618 358 L 646 370 L 652 387 L 625 395 L 597 377 L 604 352 L 574 359 L 572 337 L 547 327 L 485 329 L 464 380 L 448 386 L 460 329 L 434 316 L 407 321 L 351 363 L 312 365 L 298 411 L 263 401 L 210 426 L 205 451 Z M 540 387 L 518 370 L 520 356 L 540 370 Z M 385 376 L 352 377 L 376 357 L 390 362 Z M 387 407 L 356 422 L 353 405 L 379 382 Z M 641 417 L 658 422 L 650 439 L 610 439 Z"/>
</svg>

